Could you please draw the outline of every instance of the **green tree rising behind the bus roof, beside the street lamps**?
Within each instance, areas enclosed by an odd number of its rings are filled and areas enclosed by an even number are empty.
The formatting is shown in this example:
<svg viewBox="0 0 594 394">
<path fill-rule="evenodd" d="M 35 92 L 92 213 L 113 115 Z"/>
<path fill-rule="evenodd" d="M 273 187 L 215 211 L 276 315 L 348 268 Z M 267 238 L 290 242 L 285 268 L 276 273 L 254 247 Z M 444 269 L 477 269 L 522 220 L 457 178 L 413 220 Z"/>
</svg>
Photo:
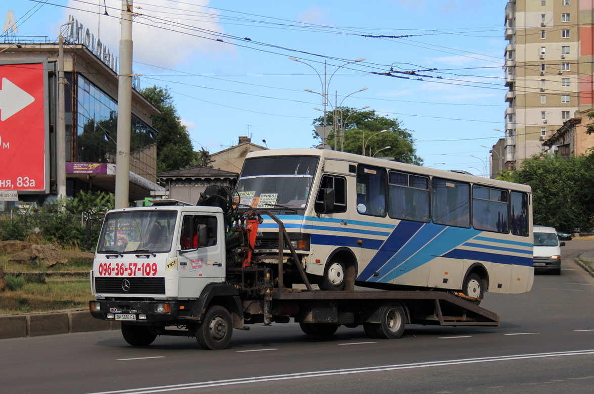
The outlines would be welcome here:
<svg viewBox="0 0 594 394">
<path fill-rule="evenodd" d="M 323 122 L 324 118 L 318 117 L 313 124 L 323 125 Z M 350 107 L 339 107 L 327 113 L 327 124 L 334 125 L 327 138 L 330 148 L 334 148 L 336 130 L 337 150 L 367 156 L 393 157 L 403 163 L 422 163 L 422 159 L 416 155 L 412 134 L 402 128 L 397 119 L 378 116 L 374 110 L 358 111 Z M 386 131 L 382 132 L 383 130 Z M 341 141 L 341 134 L 344 134 L 344 142 Z M 314 132 L 314 138 L 321 142 L 317 132 Z M 385 149 L 386 147 L 389 148 Z"/>
</svg>

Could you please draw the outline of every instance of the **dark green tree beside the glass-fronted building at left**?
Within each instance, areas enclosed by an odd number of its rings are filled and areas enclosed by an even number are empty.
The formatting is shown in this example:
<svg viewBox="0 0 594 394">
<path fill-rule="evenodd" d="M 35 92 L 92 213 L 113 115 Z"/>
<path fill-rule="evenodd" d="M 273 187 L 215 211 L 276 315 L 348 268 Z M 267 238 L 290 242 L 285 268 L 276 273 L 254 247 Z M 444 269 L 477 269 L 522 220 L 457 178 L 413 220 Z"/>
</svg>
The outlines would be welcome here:
<svg viewBox="0 0 594 394">
<path fill-rule="evenodd" d="M 188 129 L 182 125 L 169 90 L 153 86 L 143 89 L 142 95 L 160 110 L 153 115 L 153 128 L 157 130 L 157 172 L 190 167 L 197 160 Z"/>
</svg>

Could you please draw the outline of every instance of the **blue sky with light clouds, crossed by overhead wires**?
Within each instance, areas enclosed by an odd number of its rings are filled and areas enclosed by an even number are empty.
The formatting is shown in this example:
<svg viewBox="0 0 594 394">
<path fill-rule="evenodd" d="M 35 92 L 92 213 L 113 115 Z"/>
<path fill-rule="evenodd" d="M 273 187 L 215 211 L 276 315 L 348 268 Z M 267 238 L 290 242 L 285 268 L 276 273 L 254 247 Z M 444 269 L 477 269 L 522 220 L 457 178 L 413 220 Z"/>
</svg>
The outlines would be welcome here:
<svg viewBox="0 0 594 394">
<path fill-rule="evenodd" d="M 14 11 L 17 37 L 49 42 L 74 15 L 117 55 L 121 4 L 12 0 L 0 15 Z M 504 136 L 505 0 L 133 4 L 134 73 L 141 88 L 169 89 L 195 150 L 225 150 L 243 135 L 270 149 L 313 147 L 324 63 L 327 110 L 369 106 L 399 120 L 424 166 L 484 175 Z M 346 64 L 356 59 L 365 60 Z M 373 74 L 390 69 L 419 76 Z"/>
</svg>

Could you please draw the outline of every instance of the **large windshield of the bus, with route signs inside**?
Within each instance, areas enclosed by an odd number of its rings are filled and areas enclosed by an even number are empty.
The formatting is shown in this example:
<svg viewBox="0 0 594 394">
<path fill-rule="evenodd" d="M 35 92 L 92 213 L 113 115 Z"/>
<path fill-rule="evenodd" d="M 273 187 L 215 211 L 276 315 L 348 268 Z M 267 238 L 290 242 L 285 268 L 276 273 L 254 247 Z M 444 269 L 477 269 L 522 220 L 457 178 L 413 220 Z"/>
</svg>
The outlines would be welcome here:
<svg viewBox="0 0 594 394">
<path fill-rule="evenodd" d="M 249 158 L 236 186 L 240 208 L 305 209 L 317 166 L 313 156 Z"/>
</svg>

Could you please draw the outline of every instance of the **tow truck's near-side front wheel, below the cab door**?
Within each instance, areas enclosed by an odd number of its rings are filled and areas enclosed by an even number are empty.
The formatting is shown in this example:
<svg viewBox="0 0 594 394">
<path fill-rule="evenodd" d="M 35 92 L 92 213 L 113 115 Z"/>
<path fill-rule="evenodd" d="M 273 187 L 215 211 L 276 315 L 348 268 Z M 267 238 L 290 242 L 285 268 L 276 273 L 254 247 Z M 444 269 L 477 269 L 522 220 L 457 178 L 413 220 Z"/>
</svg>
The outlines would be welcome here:
<svg viewBox="0 0 594 394">
<path fill-rule="evenodd" d="M 233 334 L 229 311 L 218 305 L 208 309 L 195 334 L 196 341 L 201 348 L 207 350 L 225 349 Z"/>
</svg>

